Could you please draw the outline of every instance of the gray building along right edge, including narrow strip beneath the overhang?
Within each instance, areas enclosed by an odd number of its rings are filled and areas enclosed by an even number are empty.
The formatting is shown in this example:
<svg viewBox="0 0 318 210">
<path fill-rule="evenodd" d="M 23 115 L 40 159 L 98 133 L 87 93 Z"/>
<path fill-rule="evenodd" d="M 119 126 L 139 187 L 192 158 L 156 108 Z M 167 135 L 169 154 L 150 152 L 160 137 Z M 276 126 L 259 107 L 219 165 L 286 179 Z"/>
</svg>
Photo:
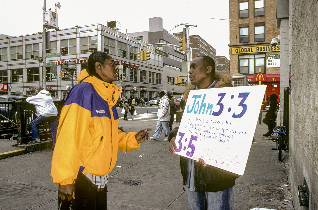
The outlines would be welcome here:
<svg viewBox="0 0 318 210">
<path fill-rule="evenodd" d="M 277 0 L 276 8 L 281 91 L 287 90 L 288 96 L 284 97 L 288 101 L 284 102 L 286 113 L 281 115 L 280 124 L 287 125 L 289 135 L 290 191 L 295 210 L 317 210 L 318 2 Z M 305 186 L 304 192 L 299 191 L 301 186 Z"/>
</svg>

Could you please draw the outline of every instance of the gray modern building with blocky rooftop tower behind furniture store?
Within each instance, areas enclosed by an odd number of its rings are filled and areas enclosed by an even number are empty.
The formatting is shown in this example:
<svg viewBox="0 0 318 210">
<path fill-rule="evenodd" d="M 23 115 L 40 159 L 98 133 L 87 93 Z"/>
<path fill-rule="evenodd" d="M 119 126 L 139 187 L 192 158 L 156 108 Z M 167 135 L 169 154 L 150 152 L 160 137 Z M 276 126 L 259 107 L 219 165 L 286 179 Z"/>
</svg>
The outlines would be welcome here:
<svg viewBox="0 0 318 210">
<path fill-rule="evenodd" d="M 168 33 L 163 28 L 161 17 L 149 18 L 149 31 L 128 33 L 127 35 L 143 40 L 149 44 L 162 43 L 179 46 L 179 38 Z M 183 72 L 182 62 L 186 60 L 186 54 L 175 46 L 156 47 L 155 51 L 162 55 L 163 62 L 163 90 L 172 91 L 177 97 L 181 97 L 184 85 L 176 85 L 175 78 L 183 76 L 183 83 L 187 83 L 187 72 Z"/>
</svg>

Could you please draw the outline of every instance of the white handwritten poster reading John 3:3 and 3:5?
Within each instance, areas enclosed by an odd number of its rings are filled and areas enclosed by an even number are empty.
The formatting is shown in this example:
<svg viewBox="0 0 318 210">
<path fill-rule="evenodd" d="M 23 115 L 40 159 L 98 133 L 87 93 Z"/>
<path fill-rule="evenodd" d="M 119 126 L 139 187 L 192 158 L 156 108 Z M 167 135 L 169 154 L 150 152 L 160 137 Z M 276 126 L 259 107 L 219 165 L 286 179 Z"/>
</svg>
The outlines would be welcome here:
<svg viewBox="0 0 318 210">
<path fill-rule="evenodd" d="M 266 85 L 191 90 L 176 154 L 243 175 Z"/>
</svg>

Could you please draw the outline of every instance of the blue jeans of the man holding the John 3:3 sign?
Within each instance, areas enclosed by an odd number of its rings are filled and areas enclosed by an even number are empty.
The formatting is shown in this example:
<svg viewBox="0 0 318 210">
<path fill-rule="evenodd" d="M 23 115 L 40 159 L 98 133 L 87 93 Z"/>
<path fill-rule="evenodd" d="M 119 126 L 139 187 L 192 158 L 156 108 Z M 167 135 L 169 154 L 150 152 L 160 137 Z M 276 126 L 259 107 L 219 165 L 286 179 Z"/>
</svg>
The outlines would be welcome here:
<svg viewBox="0 0 318 210">
<path fill-rule="evenodd" d="M 233 187 L 219 192 L 193 192 L 188 189 L 188 200 L 191 210 L 234 209 Z"/>
</svg>

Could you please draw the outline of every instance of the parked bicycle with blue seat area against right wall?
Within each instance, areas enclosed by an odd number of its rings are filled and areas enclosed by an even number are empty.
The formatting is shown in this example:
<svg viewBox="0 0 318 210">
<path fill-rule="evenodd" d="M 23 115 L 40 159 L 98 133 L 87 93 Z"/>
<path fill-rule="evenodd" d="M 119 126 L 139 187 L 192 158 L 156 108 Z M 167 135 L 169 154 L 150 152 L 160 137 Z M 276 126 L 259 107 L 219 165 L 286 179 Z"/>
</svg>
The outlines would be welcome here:
<svg viewBox="0 0 318 210">
<path fill-rule="evenodd" d="M 272 139 L 272 141 L 276 142 L 276 148 L 272 148 L 272 150 L 277 150 L 278 160 L 281 161 L 281 150 L 288 150 L 288 141 L 286 139 L 288 134 L 285 133 L 285 126 L 275 127 L 271 135 L 273 134 L 277 135 Z"/>
</svg>

